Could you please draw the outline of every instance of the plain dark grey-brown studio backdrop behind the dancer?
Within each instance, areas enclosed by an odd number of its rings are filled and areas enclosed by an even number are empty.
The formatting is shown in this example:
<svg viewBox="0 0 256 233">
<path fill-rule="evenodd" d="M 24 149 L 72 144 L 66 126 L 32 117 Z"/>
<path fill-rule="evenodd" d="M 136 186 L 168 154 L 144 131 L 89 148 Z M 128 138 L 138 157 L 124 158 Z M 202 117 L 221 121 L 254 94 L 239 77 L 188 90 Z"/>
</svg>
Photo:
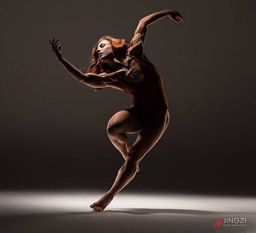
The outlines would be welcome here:
<svg viewBox="0 0 256 233">
<path fill-rule="evenodd" d="M 108 34 L 132 39 L 139 20 L 177 9 L 148 27 L 147 57 L 164 80 L 171 121 L 125 188 L 255 195 L 255 1 L 15 1 L 1 5 L 1 188 L 104 189 L 123 164 L 106 135 L 122 91 L 94 92 L 77 68 Z M 132 142 L 134 136 L 130 138 Z"/>
</svg>

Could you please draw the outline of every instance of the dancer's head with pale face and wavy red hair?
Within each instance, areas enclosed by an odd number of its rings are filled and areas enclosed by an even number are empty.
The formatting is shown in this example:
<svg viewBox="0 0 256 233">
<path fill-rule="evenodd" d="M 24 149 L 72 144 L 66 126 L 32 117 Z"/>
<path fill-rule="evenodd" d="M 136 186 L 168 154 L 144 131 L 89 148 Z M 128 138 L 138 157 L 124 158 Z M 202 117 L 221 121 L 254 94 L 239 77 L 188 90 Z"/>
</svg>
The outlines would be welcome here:
<svg viewBox="0 0 256 233">
<path fill-rule="evenodd" d="M 130 48 L 130 43 L 125 39 L 116 39 L 110 36 L 101 37 L 94 48 L 92 48 L 89 72 L 110 72 L 111 68 L 107 61 L 113 60 L 113 58 L 125 58 L 128 48 Z"/>
</svg>

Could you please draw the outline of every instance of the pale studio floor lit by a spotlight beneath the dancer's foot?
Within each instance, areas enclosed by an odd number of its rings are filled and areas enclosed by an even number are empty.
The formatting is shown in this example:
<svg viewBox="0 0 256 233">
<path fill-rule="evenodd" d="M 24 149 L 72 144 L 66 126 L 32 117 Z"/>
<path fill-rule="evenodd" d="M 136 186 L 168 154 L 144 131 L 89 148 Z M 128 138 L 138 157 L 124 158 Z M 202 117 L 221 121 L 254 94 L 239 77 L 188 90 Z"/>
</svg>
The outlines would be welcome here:
<svg viewBox="0 0 256 233">
<path fill-rule="evenodd" d="M 1 191 L 0 232 L 256 232 L 256 197 L 123 192 L 96 213 L 89 204 L 103 194 Z"/>
</svg>

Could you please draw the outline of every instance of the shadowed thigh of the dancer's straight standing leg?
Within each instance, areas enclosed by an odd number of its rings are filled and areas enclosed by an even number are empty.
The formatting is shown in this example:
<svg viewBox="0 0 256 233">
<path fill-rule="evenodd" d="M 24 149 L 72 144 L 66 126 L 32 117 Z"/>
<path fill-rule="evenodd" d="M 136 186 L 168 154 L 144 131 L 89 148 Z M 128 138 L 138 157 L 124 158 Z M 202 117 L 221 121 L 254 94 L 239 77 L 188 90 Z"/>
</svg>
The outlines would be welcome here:
<svg viewBox="0 0 256 233">
<path fill-rule="evenodd" d="M 150 151 L 161 138 L 169 124 L 169 112 L 165 110 L 141 128 L 134 142 L 131 154 L 139 156 L 139 161 Z"/>
</svg>

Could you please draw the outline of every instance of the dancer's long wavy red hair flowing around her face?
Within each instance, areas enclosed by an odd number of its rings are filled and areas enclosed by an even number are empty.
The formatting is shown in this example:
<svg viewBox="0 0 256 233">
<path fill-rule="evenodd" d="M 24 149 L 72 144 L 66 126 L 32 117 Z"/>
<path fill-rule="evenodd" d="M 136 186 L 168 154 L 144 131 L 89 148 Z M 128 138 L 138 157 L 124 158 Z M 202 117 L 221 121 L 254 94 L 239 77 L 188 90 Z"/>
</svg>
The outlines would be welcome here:
<svg viewBox="0 0 256 233">
<path fill-rule="evenodd" d="M 89 65 L 89 72 L 90 73 L 110 73 L 113 72 L 112 68 L 108 65 L 108 63 L 102 62 L 101 59 L 99 59 L 97 47 L 98 44 L 102 40 L 108 40 L 112 50 L 113 54 L 117 58 L 125 58 L 128 48 L 130 48 L 130 43 L 126 39 L 116 39 L 111 36 L 103 36 L 101 37 L 98 42 L 94 45 L 94 48 L 92 48 L 92 57 Z"/>
</svg>

